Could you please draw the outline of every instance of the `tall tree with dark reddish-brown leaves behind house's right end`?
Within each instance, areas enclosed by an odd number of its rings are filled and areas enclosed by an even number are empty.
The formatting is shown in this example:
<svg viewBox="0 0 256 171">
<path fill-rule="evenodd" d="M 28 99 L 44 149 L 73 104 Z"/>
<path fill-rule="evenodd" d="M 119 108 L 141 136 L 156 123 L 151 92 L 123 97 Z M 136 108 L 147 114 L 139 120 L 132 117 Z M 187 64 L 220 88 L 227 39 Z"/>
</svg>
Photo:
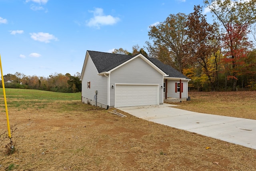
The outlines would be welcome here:
<svg viewBox="0 0 256 171">
<path fill-rule="evenodd" d="M 200 64 L 204 74 L 208 77 L 212 91 L 215 91 L 215 69 L 217 63 L 212 59 L 219 48 L 216 23 L 208 24 L 206 16 L 202 14 L 202 7 L 194 6 L 194 12 L 188 15 L 186 26 L 188 42 L 184 47 L 186 50 L 186 61 L 192 66 Z"/>
</svg>

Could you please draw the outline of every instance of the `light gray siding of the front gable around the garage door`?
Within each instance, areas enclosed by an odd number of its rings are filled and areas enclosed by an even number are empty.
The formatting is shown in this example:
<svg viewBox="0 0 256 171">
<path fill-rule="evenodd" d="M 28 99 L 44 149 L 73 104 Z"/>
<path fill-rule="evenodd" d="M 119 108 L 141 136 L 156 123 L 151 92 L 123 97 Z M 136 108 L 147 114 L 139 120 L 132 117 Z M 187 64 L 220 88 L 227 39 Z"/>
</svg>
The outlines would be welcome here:
<svg viewBox="0 0 256 171">
<path fill-rule="evenodd" d="M 115 89 L 111 88 L 115 84 L 158 84 L 159 103 L 163 103 L 163 89 L 160 87 L 163 85 L 163 76 L 140 57 L 111 72 L 110 106 L 115 104 Z"/>
</svg>

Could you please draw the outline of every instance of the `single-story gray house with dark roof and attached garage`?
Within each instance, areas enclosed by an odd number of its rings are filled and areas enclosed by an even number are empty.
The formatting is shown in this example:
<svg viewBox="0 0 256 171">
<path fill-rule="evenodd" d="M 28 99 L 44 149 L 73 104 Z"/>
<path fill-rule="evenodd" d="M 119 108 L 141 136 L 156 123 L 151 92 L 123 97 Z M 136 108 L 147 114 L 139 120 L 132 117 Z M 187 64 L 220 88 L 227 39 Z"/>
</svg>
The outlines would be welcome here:
<svg viewBox="0 0 256 171">
<path fill-rule="evenodd" d="M 82 68 L 82 102 L 108 109 L 160 105 L 188 98 L 190 80 L 156 58 L 87 51 Z"/>
</svg>

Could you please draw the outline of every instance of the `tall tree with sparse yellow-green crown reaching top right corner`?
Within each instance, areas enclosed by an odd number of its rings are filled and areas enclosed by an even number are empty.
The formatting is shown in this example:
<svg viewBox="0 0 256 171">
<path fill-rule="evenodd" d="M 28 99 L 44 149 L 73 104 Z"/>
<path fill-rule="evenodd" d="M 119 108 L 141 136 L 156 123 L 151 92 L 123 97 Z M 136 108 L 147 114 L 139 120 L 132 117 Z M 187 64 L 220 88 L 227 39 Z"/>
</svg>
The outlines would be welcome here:
<svg viewBox="0 0 256 171">
<path fill-rule="evenodd" d="M 232 70 L 236 71 L 236 56 L 240 51 L 236 46 L 234 37 L 243 35 L 240 40 L 248 35 L 248 28 L 256 22 L 256 0 L 204 0 L 204 4 L 210 9 L 222 26 L 223 41 L 230 54 Z M 247 28 L 247 30 L 244 30 Z M 233 81 L 233 90 L 236 89 L 237 77 L 233 72 L 230 78 Z"/>
</svg>

